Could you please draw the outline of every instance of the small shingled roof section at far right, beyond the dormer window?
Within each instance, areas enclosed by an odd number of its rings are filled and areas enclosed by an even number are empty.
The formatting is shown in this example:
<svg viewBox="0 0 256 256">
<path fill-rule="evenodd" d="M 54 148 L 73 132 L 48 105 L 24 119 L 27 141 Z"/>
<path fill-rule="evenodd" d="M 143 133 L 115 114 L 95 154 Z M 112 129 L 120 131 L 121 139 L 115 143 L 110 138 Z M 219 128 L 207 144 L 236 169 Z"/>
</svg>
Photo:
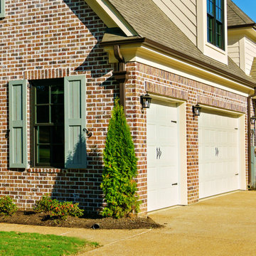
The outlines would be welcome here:
<svg viewBox="0 0 256 256">
<path fill-rule="evenodd" d="M 254 26 L 255 21 L 247 16 L 233 1 L 228 0 L 228 27 L 234 26 Z"/>
</svg>

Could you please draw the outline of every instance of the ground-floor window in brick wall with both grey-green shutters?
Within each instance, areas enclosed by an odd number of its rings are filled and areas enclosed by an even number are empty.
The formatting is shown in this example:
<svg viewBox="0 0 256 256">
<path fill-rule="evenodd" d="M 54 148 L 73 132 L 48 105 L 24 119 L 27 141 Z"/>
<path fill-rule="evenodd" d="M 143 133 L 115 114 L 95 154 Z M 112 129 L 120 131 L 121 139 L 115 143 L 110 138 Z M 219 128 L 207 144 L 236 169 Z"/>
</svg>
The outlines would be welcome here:
<svg viewBox="0 0 256 256">
<path fill-rule="evenodd" d="M 85 75 L 31 80 L 32 165 L 85 169 Z M 26 80 L 9 82 L 10 168 L 27 167 Z"/>
</svg>

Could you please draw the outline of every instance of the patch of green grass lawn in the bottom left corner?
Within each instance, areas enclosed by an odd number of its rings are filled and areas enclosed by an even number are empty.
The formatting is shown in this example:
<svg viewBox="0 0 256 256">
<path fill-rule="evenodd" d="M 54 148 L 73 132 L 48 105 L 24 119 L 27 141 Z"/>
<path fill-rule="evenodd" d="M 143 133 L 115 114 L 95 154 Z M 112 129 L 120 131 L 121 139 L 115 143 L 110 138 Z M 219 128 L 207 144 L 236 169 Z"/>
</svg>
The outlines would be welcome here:
<svg viewBox="0 0 256 256">
<path fill-rule="evenodd" d="M 0 232 L 0 255 L 61 256 L 73 255 L 97 247 L 96 242 L 59 235 L 38 233 Z"/>
</svg>

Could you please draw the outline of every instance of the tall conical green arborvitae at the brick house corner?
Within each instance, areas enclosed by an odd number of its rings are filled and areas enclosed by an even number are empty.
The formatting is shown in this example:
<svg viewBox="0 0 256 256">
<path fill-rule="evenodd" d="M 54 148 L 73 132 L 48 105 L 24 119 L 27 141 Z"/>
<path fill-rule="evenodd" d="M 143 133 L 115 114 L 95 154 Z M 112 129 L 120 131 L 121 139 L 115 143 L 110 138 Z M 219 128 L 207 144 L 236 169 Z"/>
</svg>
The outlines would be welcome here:
<svg viewBox="0 0 256 256">
<path fill-rule="evenodd" d="M 101 188 L 107 206 L 105 217 L 120 218 L 139 211 L 137 200 L 137 158 L 123 107 L 115 100 L 103 152 L 104 170 Z"/>
</svg>

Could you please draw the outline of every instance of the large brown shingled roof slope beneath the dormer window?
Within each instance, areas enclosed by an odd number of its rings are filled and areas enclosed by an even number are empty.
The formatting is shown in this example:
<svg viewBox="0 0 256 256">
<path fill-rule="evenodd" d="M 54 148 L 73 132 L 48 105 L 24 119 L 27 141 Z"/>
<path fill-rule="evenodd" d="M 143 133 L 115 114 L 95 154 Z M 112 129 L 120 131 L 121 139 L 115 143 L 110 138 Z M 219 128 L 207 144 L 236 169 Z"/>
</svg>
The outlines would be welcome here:
<svg viewBox="0 0 256 256">
<path fill-rule="evenodd" d="M 245 80 L 255 85 L 255 80 L 245 75 L 245 73 L 236 65 L 231 58 L 228 58 L 228 65 L 213 60 L 203 55 L 188 37 L 170 20 L 161 9 L 159 9 L 152 0 L 109 0 L 110 3 L 119 11 L 119 13 L 129 22 L 137 31 L 141 38 L 149 39 L 168 48 L 171 53 L 183 55 L 183 58 L 196 60 L 201 66 L 208 65 L 208 69 L 217 70 L 218 73 L 226 73 L 234 79 Z M 111 41 L 120 40 L 120 36 L 115 39 L 114 36 L 108 37 Z M 185 57 L 184 57 L 185 56 Z M 210 68 L 209 68 L 210 67 Z M 254 86 L 250 85 L 250 86 Z"/>
</svg>

